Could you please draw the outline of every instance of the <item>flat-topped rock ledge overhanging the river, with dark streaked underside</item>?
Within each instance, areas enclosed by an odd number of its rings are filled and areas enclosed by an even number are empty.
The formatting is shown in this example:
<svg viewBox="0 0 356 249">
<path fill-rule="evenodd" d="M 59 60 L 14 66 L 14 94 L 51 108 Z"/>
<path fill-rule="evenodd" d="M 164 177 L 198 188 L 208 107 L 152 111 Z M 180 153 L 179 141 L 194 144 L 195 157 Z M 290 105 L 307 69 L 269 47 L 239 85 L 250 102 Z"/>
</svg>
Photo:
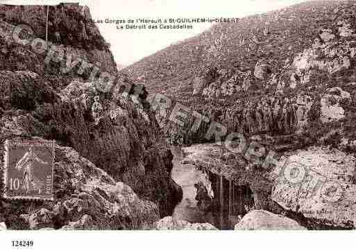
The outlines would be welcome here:
<svg viewBox="0 0 356 249">
<path fill-rule="evenodd" d="M 209 176 L 214 194 L 210 204 L 213 205 L 212 209 L 219 210 L 222 201 L 223 212 L 226 214 L 228 203 L 235 206 L 235 216 L 244 215 L 250 209 L 282 211 L 271 199 L 273 180 L 266 177 L 267 173 L 264 175 L 259 172 L 257 165 L 252 165 L 255 162 L 248 162 L 244 154 L 231 153 L 216 144 L 198 144 L 184 148 L 184 151 L 187 160 Z M 237 194 L 235 200 L 231 198 L 232 191 Z"/>
</svg>

